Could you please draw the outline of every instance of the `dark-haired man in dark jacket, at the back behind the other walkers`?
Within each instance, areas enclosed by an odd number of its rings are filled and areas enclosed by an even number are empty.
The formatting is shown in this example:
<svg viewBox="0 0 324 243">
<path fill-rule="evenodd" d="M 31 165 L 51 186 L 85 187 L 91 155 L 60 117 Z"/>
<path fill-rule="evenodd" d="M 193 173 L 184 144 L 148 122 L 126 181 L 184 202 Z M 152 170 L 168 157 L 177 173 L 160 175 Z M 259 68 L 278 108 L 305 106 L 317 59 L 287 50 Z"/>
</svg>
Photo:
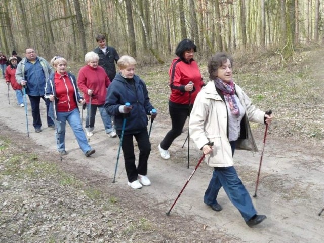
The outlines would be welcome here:
<svg viewBox="0 0 324 243">
<path fill-rule="evenodd" d="M 103 34 L 98 34 L 96 36 L 98 47 L 93 51 L 99 55 L 99 65 L 102 66 L 110 81 L 115 78 L 116 67 L 115 62 L 119 60 L 119 55 L 113 47 L 106 46 L 106 37 Z"/>
</svg>

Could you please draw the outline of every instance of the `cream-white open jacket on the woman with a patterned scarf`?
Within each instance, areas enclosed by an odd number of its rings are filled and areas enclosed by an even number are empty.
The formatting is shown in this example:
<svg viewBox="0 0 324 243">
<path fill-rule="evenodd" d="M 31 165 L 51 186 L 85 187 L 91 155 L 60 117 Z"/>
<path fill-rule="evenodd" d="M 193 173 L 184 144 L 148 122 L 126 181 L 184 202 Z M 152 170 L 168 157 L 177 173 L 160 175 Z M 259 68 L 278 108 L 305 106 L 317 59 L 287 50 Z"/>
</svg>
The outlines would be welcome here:
<svg viewBox="0 0 324 243">
<path fill-rule="evenodd" d="M 265 112 L 252 105 L 247 94 L 236 84 L 235 90 L 246 112 L 243 119 L 245 119 L 247 134 L 246 138 L 237 140 L 235 149 L 256 152 L 258 148 L 252 136 L 249 121 L 264 124 Z M 199 149 L 209 142 L 214 142 L 213 154 L 208 154 L 205 158 L 209 166 L 229 167 L 234 164 L 227 129 L 226 104 L 217 93 L 214 81 L 210 81 L 198 93 L 189 120 L 190 138 Z"/>
</svg>

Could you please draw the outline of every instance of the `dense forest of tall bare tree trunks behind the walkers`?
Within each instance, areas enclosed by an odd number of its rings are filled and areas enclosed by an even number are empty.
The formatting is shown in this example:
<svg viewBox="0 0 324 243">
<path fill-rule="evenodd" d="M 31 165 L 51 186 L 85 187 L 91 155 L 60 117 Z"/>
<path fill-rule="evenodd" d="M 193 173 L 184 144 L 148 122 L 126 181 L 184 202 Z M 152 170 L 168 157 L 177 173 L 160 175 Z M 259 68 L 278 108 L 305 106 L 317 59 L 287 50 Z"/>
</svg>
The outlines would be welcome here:
<svg viewBox="0 0 324 243">
<path fill-rule="evenodd" d="M 196 58 L 271 49 L 282 59 L 322 44 L 323 0 L 2 0 L 0 51 L 83 60 L 104 33 L 120 55 L 164 63 L 182 38 Z"/>
</svg>

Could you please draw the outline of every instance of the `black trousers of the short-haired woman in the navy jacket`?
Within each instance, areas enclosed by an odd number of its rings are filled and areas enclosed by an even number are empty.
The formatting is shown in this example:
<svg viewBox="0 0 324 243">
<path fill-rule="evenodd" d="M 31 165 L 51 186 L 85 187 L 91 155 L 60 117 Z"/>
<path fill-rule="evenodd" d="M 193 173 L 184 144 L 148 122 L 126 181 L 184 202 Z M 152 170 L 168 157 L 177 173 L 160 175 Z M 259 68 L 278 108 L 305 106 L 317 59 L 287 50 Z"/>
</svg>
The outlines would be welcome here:
<svg viewBox="0 0 324 243">
<path fill-rule="evenodd" d="M 118 136 L 120 138 L 121 135 Z M 135 164 L 133 136 L 135 137 L 138 144 L 138 149 L 140 150 L 137 168 Z M 124 153 L 125 169 L 128 181 L 136 181 L 138 174 L 145 176 L 147 174 L 147 160 L 151 152 L 151 143 L 148 137 L 147 129 L 135 134 L 124 134 L 121 149 L 123 149 Z"/>
</svg>

